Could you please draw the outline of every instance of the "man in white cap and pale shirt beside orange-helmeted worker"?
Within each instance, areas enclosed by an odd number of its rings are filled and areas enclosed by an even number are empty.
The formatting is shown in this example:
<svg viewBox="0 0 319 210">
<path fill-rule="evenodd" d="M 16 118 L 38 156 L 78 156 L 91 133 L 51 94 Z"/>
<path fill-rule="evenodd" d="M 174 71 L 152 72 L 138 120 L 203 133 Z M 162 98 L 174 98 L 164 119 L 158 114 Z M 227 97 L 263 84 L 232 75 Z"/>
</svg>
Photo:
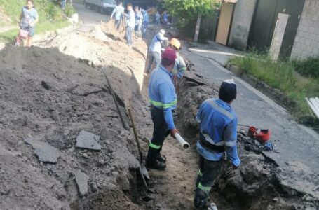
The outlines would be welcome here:
<svg viewBox="0 0 319 210">
<path fill-rule="evenodd" d="M 151 71 L 151 66 L 155 61 L 156 67 L 161 64 L 161 48 L 162 48 L 162 41 L 168 40 L 165 36 L 165 31 L 161 29 L 154 38 L 151 40 L 151 45 L 149 45 L 149 64 L 147 66 L 147 73 Z"/>
</svg>

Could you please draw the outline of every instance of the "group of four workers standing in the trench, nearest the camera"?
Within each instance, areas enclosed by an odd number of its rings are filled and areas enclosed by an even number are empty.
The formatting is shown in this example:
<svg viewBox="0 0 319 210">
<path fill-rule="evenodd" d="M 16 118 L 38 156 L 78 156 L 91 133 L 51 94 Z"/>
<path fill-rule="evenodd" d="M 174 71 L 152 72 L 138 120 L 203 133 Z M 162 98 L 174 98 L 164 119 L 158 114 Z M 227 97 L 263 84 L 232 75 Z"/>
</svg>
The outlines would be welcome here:
<svg viewBox="0 0 319 210">
<path fill-rule="evenodd" d="M 179 55 L 181 45 L 176 38 L 169 41 L 163 50 L 163 41 L 168 41 L 165 31 L 159 31 L 151 41 L 151 57 L 146 71 L 151 71 L 153 62 L 156 67 L 149 79 L 149 102 L 151 119 L 154 123 L 153 137 L 147 153 L 147 167 L 165 169 L 166 158 L 161 155 L 163 142 L 170 134 L 179 133 L 175 127 L 173 111 L 177 106 L 177 93 L 174 80 L 182 78 L 186 65 Z M 201 104 L 196 115 L 200 137 L 196 144 L 199 154 L 199 172 L 196 179 L 194 209 L 214 209 L 208 203 L 214 181 L 225 167 L 236 169 L 240 165 L 237 154 L 237 117 L 231 108 L 236 99 L 237 87 L 233 79 L 225 80 L 219 88 L 217 99 L 207 99 Z"/>
</svg>

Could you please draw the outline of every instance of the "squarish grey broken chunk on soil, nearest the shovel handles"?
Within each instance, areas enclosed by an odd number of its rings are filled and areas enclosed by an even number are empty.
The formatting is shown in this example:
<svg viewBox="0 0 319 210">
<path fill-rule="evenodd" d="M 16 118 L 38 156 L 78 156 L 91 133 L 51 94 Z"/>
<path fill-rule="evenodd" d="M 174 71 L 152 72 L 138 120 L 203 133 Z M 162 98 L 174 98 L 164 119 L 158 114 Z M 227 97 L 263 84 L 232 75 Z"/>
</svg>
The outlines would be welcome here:
<svg viewBox="0 0 319 210">
<path fill-rule="evenodd" d="M 90 132 L 81 130 L 78 137 L 76 137 L 76 148 L 87 148 L 94 151 L 100 151 L 101 146 L 97 143 L 100 136 Z"/>
</svg>

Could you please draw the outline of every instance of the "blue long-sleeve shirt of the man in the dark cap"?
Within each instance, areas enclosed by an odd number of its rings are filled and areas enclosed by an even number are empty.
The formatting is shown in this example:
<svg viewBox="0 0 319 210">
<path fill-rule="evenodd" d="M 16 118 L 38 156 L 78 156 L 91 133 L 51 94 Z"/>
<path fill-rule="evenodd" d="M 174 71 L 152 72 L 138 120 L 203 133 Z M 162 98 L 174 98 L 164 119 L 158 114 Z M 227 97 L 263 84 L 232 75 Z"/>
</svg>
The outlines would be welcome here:
<svg viewBox="0 0 319 210">
<path fill-rule="evenodd" d="M 205 141 L 215 146 L 224 146 L 227 158 L 235 166 L 240 165 L 237 154 L 237 117 L 229 104 L 220 99 L 207 99 L 198 110 L 196 121 Z M 224 153 L 208 151 L 198 141 L 197 151 L 207 160 L 221 160 Z"/>
</svg>

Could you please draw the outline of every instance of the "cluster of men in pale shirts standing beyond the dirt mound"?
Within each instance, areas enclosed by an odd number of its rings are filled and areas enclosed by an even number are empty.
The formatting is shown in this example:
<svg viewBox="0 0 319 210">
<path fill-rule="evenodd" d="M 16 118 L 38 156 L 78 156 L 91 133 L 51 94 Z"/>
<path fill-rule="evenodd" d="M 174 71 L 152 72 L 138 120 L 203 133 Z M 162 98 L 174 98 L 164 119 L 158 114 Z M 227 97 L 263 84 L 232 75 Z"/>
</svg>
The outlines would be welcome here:
<svg viewBox="0 0 319 210">
<path fill-rule="evenodd" d="M 115 20 L 115 27 L 118 30 L 121 22 L 125 22 L 125 38 L 128 45 L 133 44 L 132 31 L 135 31 L 135 38 L 137 36 L 146 37 L 147 26 L 149 25 L 149 14 L 146 10 L 128 3 L 126 7 L 128 13 L 124 13 L 122 1 L 118 2 L 118 5 L 114 8 L 111 13 L 111 19 Z"/>
</svg>

